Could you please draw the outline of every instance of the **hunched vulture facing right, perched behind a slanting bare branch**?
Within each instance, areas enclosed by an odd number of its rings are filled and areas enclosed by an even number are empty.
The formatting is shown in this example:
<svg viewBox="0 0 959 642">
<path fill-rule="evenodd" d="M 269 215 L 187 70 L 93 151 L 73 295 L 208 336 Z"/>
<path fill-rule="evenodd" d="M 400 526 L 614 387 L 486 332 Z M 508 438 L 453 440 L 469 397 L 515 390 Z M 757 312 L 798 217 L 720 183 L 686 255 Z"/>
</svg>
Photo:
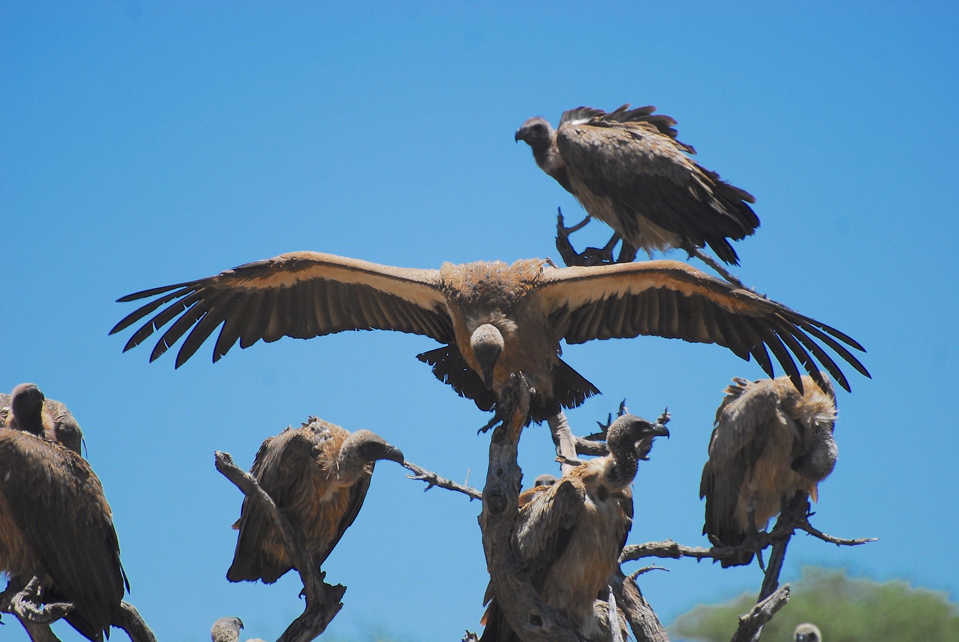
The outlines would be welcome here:
<svg viewBox="0 0 959 642">
<path fill-rule="evenodd" d="M 260 446 L 250 473 L 303 531 L 307 549 L 319 566 L 363 507 L 377 460 L 403 464 L 403 453 L 368 430 L 352 435 L 332 423 L 310 417 Z M 230 582 L 274 583 L 292 569 L 283 539 L 261 511 L 244 499 Z"/>
</svg>

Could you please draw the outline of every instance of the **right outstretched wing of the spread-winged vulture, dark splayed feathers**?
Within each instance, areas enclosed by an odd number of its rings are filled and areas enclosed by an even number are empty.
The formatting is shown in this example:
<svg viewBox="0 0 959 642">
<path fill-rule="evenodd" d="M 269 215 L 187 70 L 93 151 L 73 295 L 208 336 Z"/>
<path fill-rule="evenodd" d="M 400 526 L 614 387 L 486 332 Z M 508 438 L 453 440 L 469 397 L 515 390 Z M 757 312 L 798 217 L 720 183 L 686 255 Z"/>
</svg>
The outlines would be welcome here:
<svg viewBox="0 0 959 642">
<path fill-rule="evenodd" d="M 865 348 L 848 335 L 677 261 L 544 270 L 539 291 L 556 336 L 568 344 L 640 335 L 717 344 L 746 361 L 752 356 L 773 377 L 768 347 L 797 390 L 803 382 L 793 356 L 820 388 L 829 384 L 817 361 L 849 391 L 818 340 L 870 376 L 846 345 Z"/>
</svg>

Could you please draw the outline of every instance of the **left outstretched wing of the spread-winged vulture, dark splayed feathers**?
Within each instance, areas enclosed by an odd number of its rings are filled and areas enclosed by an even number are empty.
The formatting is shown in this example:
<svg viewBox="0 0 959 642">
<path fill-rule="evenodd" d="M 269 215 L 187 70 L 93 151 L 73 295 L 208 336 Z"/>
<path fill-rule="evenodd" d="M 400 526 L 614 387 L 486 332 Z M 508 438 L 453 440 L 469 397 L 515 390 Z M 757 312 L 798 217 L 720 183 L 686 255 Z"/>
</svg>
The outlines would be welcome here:
<svg viewBox="0 0 959 642">
<path fill-rule="evenodd" d="M 176 354 L 181 366 L 222 324 L 218 361 L 237 340 L 310 339 L 343 330 L 398 330 L 453 343 L 452 321 L 438 270 L 394 268 L 320 252 L 291 252 L 233 270 L 144 290 L 119 301 L 152 300 L 117 323 L 119 332 L 159 309 L 130 337 L 124 351 L 174 321 L 153 347 L 153 361 L 187 333 Z"/>
</svg>

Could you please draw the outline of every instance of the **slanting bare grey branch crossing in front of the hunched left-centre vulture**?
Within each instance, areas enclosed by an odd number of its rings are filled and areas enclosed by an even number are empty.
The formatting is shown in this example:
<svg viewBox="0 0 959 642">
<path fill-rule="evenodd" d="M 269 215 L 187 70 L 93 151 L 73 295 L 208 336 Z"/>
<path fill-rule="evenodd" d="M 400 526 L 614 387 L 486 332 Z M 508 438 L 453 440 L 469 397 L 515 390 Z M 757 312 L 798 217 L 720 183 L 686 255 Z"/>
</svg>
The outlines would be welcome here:
<svg viewBox="0 0 959 642">
<path fill-rule="evenodd" d="M 346 592 L 346 587 L 342 584 L 331 586 L 323 581 L 326 574 L 313 563 L 306 547 L 306 536 L 301 530 L 292 527 L 290 520 L 277 508 L 267 492 L 246 470 L 234 464 L 233 457 L 229 453 L 218 451 L 215 453 L 215 458 L 217 470 L 222 476 L 240 488 L 246 498 L 253 502 L 259 511 L 267 515 L 269 521 L 282 535 L 287 555 L 293 560 L 293 565 L 303 583 L 306 607 L 303 613 L 287 627 L 287 630 L 283 631 L 277 642 L 310 642 L 316 639 L 343 607 L 340 600 Z"/>
</svg>

